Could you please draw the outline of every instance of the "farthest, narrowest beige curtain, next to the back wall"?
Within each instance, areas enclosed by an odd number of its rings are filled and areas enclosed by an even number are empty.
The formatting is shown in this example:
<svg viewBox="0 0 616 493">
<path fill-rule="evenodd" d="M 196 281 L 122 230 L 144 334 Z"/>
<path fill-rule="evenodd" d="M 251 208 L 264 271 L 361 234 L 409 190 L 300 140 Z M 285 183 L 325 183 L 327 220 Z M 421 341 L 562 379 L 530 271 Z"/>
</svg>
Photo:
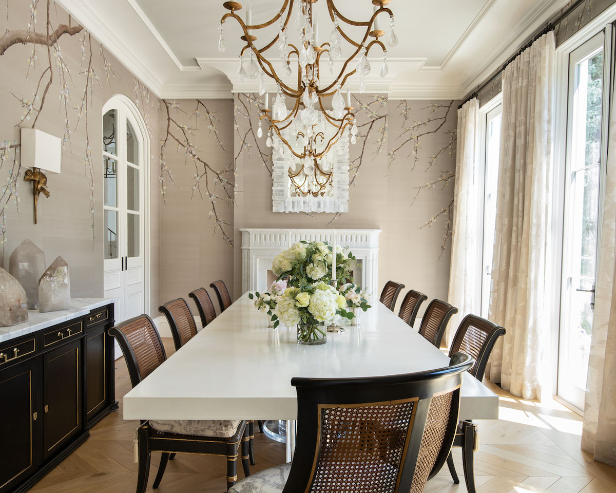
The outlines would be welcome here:
<svg viewBox="0 0 616 493">
<path fill-rule="evenodd" d="M 451 344 L 461 317 L 481 310 L 482 188 L 479 174 L 479 100 L 471 99 L 458 110 L 456 181 L 453 192 L 452 264 L 448 301 L 458 314 L 447 325 L 445 341 Z"/>
</svg>

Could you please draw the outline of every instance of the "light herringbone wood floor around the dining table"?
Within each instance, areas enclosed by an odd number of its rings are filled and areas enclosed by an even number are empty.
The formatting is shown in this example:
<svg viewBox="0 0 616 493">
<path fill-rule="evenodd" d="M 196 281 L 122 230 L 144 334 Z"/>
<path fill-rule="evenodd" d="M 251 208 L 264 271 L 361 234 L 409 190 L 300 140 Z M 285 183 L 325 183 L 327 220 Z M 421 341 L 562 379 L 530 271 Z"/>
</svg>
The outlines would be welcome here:
<svg viewBox="0 0 616 493">
<path fill-rule="evenodd" d="M 173 352 L 172 346 L 171 339 L 165 340 L 167 354 Z M 122 419 L 122 396 L 130 388 L 124 359 L 118 359 L 116 398 L 120 410 L 94 426 L 90 438 L 31 491 L 135 491 L 137 464 L 133 462 L 132 439 L 137 422 Z M 493 389 L 501 396 L 500 420 L 479 423 L 478 493 L 616 493 L 616 468 L 594 462 L 580 450 L 582 422 L 578 415 L 556 403 L 540 405 L 511 397 L 496 386 Z M 285 461 L 284 446 L 260 433 L 255 435 L 255 454 L 253 472 Z M 466 492 L 459 450 L 454 451 L 454 458 L 461 483 L 453 484 L 445 467 L 429 481 L 426 493 Z M 153 454 L 148 488 L 156 476 L 158 460 L 159 455 Z M 241 466 L 238 470 L 241 478 Z M 224 457 L 178 454 L 169 462 L 158 491 L 221 493 L 224 489 Z"/>
</svg>

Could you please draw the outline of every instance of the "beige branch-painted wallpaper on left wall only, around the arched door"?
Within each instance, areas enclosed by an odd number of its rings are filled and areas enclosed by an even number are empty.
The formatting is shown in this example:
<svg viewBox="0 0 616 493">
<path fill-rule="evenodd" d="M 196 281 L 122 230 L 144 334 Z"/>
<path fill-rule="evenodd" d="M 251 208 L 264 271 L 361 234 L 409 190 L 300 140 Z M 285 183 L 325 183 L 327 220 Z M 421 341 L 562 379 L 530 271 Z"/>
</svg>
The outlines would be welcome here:
<svg viewBox="0 0 616 493">
<path fill-rule="evenodd" d="M 160 194 L 158 193 L 158 100 L 136 81 L 132 75 L 105 47 L 81 30 L 60 36 L 51 47 L 53 80 L 43 98 L 49 81 L 49 56 L 47 46 L 31 43 L 12 43 L 11 34 L 28 30 L 30 23 L 38 33 L 46 32 L 47 2 L 37 5 L 36 23 L 30 17 L 29 1 L 9 0 L 6 12 L 3 7 L 0 26 L 0 147 L 18 145 L 20 128 L 31 128 L 36 115 L 35 128 L 62 138 L 65 127 L 70 130 L 62 152 L 62 171 L 49 174 L 49 198 L 41 195 L 38 206 L 38 224 L 33 221 L 32 184 L 23 181 L 25 168 L 13 165 L 15 148 L 9 149 L 0 167 L 0 209 L 4 211 L 4 224 L 0 216 L 0 253 L 4 268 L 9 267 L 9 256 L 24 239 L 30 238 L 45 252 L 47 265 L 56 256 L 67 261 L 70 272 L 71 295 L 103 295 L 103 166 L 102 166 L 102 107 L 114 94 L 124 94 L 136 102 L 150 128 L 152 166 L 152 202 L 150 205 L 152 232 L 152 307 L 158 308 L 160 286 Z M 69 24 L 68 14 L 54 2 L 49 9 L 51 31 Z M 78 24 L 71 20 L 70 26 Z M 30 28 L 30 29 L 31 29 Z M 105 70 L 107 68 L 107 70 Z M 107 76 L 109 80 L 107 81 Z M 89 82 L 87 82 L 89 80 Z M 38 97 L 35 97 L 39 86 Z M 65 84 L 64 84 L 65 83 Z M 87 107 L 83 105 L 84 90 Z M 66 96 L 65 105 L 60 94 Z M 147 98 L 150 98 L 147 100 Z M 43 107 L 41 109 L 41 103 Z M 30 110 L 33 104 L 33 110 Z M 82 107 L 79 118 L 79 107 Z M 40 112 L 36 111 L 41 109 Z M 23 122 L 23 116 L 30 113 Z M 86 112 L 87 136 L 91 146 L 92 179 L 86 161 Z M 18 150 L 18 149 L 17 149 Z M 16 177 L 16 173 L 19 176 Z M 11 193 L 17 181 L 17 198 Z M 91 197 L 94 198 L 94 221 L 91 214 Z M 6 205 L 6 208 L 5 208 Z M 2 228 L 4 226 L 4 230 Z"/>
</svg>

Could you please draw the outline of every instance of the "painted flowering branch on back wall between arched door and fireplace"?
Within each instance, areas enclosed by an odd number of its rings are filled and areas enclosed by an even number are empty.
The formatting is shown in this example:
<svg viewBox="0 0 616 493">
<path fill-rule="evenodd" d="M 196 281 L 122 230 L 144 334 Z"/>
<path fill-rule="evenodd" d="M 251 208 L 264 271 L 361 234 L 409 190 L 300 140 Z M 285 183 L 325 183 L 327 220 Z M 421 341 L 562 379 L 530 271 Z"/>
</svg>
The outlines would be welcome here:
<svg viewBox="0 0 616 493">
<path fill-rule="evenodd" d="M 211 205 L 209 218 L 214 219 L 214 234 L 218 230 L 222 238 L 230 246 L 233 246 L 233 224 L 225 221 L 218 213 L 217 206 L 221 202 L 227 204 L 235 203 L 234 182 L 230 176 L 235 174 L 235 164 L 232 163 L 224 169 L 216 169 L 205 157 L 205 153 L 198 149 L 193 143 L 195 132 L 200 130 L 204 124 L 207 126 L 209 135 L 213 135 L 221 149 L 225 150 L 219 138 L 216 126 L 221 122 L 216 113 L 210 112 L 201 100 L 196 101 L 195 109 L 192 113 L 182 110 L 179 102 L 174 100 L 163 100 L 164 113 L 162 118 L 166 121 L 166 131 L 161 136 L 160 143 L 160 183 L 163 202 L 166 203 L 166 181 L 171 181 L 177 186 L 171 171 L 166 163 L 166 152 L 169 147 L 176 147 L 177 152 L 182 152 L 185 162 L 191 162 L 195 166 L 195 175 L 190 187 L 191 198 L 199 194 L 202 199 L 207 199 Z M 188 121 L 194 123 L 182 123 L 179 115 L 188 115 Z M 226 151 L 225 151 L 226 152 Z"/>
</svg>

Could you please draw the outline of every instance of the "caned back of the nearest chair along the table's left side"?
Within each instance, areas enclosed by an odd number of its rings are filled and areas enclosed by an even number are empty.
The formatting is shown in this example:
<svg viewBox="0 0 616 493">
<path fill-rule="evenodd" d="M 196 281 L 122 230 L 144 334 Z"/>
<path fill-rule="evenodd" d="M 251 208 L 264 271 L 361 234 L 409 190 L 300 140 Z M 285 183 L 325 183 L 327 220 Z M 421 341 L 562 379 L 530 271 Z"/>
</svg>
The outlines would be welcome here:
<svg viewBox="0 0 616 493">
<path fill-rule="evenodd" d="M 145 314 L 111 327 L 109 334 L 120 344 L 133 387 L 167 359 L 154 322 Z"/>
</svg>

